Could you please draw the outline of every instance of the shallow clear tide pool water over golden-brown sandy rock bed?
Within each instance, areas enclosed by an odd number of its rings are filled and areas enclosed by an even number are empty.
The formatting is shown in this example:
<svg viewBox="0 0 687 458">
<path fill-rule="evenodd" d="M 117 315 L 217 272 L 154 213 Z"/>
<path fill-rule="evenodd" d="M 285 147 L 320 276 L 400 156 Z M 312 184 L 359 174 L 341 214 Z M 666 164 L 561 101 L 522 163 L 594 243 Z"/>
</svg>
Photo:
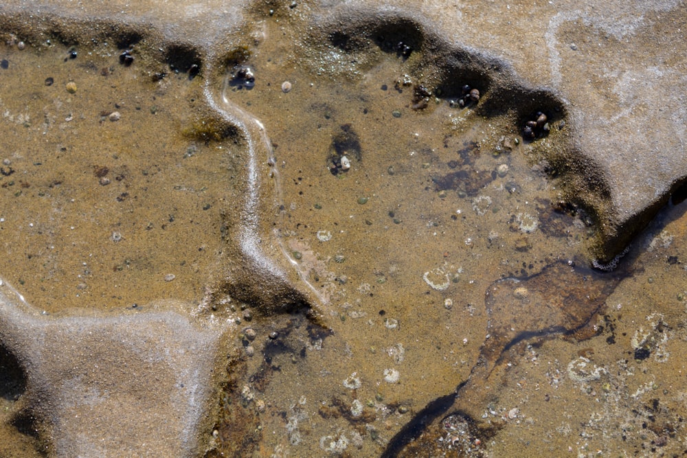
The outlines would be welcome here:
<svg viewBox="0 0 687 458">
<path fill-rule="evenodd" d="M 3 277 L 49 313 L 161 298 L 196 310 L 230 262 L 251 159 L 203 128 L 207 78 L 221 108 L 264 126 L 260 227 L 322 316 L 213 304 L 245 331 L 211 456 L 390 453 L 414 415 L 459 386 L 460 415 L 429 428 L 418 456 L 684 449 L 684 205 L 618 272 L 589 271 L 594 228 L 561 203 L 543 161 L 567 147 L 560 117 L 528 142 L 508 109 L 480 111 L 488 91 L 461 107 L 460 89 L 430 87 L 418 102 L 419 51 L 380 40 L 359 56 L 324 54 L 302 42 L 305 20 L 256 13 L 260 39 L 216 80 L 145 54 L 127 67 L 107 44 L 74 59 L 61 44 L 3 46 Z M 593 300 L 572 293 L 585 285 Z M 10 413 L 15 382 L 1 401 Z M 30 456 L 30 437 L 3 421 L 8 450 Z"/>
</svg>

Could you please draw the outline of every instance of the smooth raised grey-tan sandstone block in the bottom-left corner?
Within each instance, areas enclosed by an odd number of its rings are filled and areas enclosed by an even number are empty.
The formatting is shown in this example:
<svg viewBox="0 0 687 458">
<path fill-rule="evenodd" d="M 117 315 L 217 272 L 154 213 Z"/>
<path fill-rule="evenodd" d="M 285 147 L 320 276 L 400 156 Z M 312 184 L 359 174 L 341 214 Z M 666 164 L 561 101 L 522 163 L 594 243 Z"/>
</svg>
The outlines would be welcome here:
<svg viewBox="0 0 687 458">
<path fill-rule="evenodd" d="M 27 396 L 15 415 L 36 419 L 51 455 L 202 453 L 223 329 L 192 323 L 179 304 L 51 317 L 2 289 L 1 341 L 23 368 Z"/>
</svg>

